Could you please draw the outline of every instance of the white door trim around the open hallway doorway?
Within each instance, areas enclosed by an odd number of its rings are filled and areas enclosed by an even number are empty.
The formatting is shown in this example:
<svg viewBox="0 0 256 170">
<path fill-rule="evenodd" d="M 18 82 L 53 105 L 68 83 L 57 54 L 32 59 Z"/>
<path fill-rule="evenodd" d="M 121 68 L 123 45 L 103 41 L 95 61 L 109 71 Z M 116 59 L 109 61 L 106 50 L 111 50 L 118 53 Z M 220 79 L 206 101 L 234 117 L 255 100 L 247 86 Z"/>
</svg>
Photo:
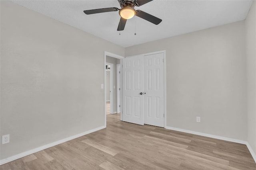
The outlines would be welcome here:
<svg viewBox="0 0 256 170">
<path fill-rule="evenodd" d="M 104 117 L 105 117 L 104 127 L 106 127 L 106 125 L 107 125 L 107 120 L 106 120 L 106 56 L 114 57 L 116 59 L 120 59 L 120 64 L 121 65 L 122 65 L 122 62 L 123 62 L 122 59 L 124 59 L 124 57 L 122 57 L 120 55 L 109 53 L 107 51 L 104 52 Z M 121 67 L 121 71 L 122 71 L 122 67 Z M 120 78 L 122 79 L 122 75 L 121 75 Z M 120 86 L 122 86 L 122 84 Z M 120 103 L 122 103 L 122 88 L 121 88 L 121 91 L 120 91 L 120 95 L 121 95 L 120 96 Z M 120 111 L 122 112 L 122 105 L 120 107 Z M 122 120 L 122 114 L 121 114 L 121 120 Z"/>
</svg>

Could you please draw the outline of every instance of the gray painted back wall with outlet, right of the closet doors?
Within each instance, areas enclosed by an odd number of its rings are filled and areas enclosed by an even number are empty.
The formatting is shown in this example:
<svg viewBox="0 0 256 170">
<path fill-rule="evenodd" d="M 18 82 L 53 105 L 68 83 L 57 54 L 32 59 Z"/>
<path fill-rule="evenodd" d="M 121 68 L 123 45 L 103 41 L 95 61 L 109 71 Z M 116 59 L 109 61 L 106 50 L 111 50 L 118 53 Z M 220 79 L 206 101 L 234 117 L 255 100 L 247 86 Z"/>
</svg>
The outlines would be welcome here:
<svg viewBox="0 0 256 170">
<path fill-rule="evenodd" d="M 166 50 L 167 126 L 247 141 L 244 32 L 239 21 L 125 49 Z"/>
</svg>

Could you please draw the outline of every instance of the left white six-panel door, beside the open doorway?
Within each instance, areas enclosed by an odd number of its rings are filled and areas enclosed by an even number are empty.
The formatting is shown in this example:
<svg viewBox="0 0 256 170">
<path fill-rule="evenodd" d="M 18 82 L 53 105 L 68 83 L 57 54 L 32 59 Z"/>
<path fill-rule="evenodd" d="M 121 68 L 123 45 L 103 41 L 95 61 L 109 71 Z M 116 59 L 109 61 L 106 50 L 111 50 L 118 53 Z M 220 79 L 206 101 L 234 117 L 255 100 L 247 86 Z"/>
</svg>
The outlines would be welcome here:
<svg viewBox="0 0 256 170">
<path fill-rule="evenodd" d="M 143 55 L 123 59 L 123 121 L 144 125 Z"/>
</svg>

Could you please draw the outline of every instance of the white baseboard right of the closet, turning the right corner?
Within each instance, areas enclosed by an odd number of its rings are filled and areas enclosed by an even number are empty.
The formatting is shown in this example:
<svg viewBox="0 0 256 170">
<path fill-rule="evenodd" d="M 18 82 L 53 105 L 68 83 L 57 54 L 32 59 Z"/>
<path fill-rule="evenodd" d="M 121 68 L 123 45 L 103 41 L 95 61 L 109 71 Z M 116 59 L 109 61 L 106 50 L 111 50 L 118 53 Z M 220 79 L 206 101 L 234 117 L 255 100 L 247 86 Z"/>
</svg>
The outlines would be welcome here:
<svg viewBox="0 0 256 170">
<path fill-rule="evenodd" d="M 228 137 L 221 137 L 221 136 L 217 136 L 217 135 L 211 135 L 211 134 L 208 134 L 208 133 L 189 131 L 189 130 L 185 130 L 185 129 L 179 129 L 179 128 L 176 128 L 176 127 L 170 127 L 170 126 L 166 126 L 166 129 L 179 131 L 179 132 L 184 132 L 184 133 L 190 133 L 190 134 L 194 134 L 194 135 L 200 135 L 200 136 L 204 136 L 204 137 L 210 137 L 210 138 L 214 138 L 214 139 L 220 139 L 220 140 L 223 140 L 223 141 L 229 141 L 229 142 L 244 144 L 244 145 L 247 146 L 248 150 L 250 151 L 250 153 L 252 155 L 252 158 L 254 159 L 254 161 L 256 163 L 256 155 L 255 155 L 254 151 L 252 150 L 252 147 L 249 145 L 249 143 L 247 141 L 242 141 L 242 140 L 228 138 Z"/>
</svg>

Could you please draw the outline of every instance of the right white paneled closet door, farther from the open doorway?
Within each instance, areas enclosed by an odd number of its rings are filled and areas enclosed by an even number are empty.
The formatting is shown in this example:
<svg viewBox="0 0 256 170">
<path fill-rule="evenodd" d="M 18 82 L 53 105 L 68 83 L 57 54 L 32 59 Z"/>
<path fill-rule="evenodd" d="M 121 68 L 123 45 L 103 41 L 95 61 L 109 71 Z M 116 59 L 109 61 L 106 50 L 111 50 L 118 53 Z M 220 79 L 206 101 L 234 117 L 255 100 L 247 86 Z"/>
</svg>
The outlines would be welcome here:
<svg viewBox="0 0 256 170">
<path fill-rule="evenodd" d="M 164 53 L 144 56 L 144 123 L 164 127 Z"/>
</svg>

